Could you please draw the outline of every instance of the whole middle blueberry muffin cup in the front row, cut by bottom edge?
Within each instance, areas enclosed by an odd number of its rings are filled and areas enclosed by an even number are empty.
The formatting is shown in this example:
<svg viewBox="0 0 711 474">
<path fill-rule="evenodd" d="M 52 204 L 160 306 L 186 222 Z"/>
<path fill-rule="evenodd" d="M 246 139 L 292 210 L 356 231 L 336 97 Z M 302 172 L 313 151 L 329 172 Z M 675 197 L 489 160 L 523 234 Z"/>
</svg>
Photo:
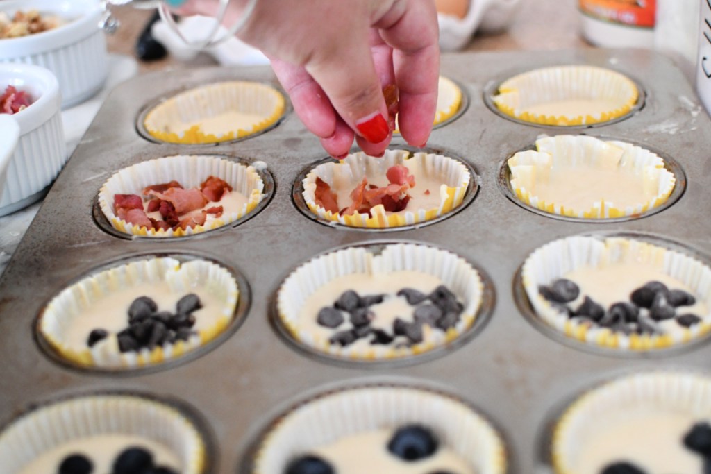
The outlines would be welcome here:
<svg viewBox="0 0 711 474">
<path fill-rule="evenodd" d="M 504 474 L 508 463 L 501 436 L 466 402 L 429 389 L 367 384 L 322 393 L 279 415 L 240 472 L 312 472 L 287 470 L 307 462 L 338 466 L 338 450 L 348 443 L 363 454 L 351 459 L 363 472 L 407 472 L 402 469 L 415 463 L 417 472 Z"/>
</svg>

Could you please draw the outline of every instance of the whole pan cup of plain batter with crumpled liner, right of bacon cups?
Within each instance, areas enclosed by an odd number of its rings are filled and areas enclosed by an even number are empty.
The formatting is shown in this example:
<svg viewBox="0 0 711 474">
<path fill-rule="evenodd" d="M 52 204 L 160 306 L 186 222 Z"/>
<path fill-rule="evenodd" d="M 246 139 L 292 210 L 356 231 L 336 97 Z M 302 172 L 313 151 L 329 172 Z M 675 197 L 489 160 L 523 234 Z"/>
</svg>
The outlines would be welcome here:
<svg viewBox="0 0 711 474">
<path fill-rule="evenodd" d="M 619 183 L 601 188 L 599 179 Z M 677 161 L 646 145 L 584 134 L 544 135 L 500 164 L 497 184 L 530 212 L 569 222 L 614 223 L 669 208 L 683 195 L 686 175 Z"/>
</svg>

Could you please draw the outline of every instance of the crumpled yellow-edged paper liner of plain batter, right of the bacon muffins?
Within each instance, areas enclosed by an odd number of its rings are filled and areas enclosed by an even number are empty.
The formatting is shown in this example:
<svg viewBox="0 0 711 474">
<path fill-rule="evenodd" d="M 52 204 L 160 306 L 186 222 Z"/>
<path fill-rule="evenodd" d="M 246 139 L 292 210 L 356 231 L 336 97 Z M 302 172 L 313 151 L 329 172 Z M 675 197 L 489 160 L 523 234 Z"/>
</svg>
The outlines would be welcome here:
<svg viewBox="0 0 711 474">
<path fill-rule="evenodd" d="M 537 151 L 519 151 L 508 159 L 510 187 L 519 200 L 534 208 L 567 217 L 604 219 L 640 215 L 665 203 L 676 184 L 674 173 L 665 168 L 664 160 L 655 153 L 623 141 L 602 141 L 594 136 L 557 135 L 536 140 Z M 604 190 L 599 190 L 599 200 L 589 208 L 577 208 L 545 200 L 537 194 L 538 185 L 550 183 L 552 169 L 562 173 L 567 169 L 583 171 L 597 169 L 601 172 L 616 171 L 619 178 L 640 185 L 638 202 L 616 205 Z M 597 190 L 599 183 L 580 182 L 579 188 Z M 622 183 L 625 185 L 626 183 Z M 562 191 L 563 192 L 563 191 Z M 567 196 L 560 195 L 560 199 Z"/>
</svg>

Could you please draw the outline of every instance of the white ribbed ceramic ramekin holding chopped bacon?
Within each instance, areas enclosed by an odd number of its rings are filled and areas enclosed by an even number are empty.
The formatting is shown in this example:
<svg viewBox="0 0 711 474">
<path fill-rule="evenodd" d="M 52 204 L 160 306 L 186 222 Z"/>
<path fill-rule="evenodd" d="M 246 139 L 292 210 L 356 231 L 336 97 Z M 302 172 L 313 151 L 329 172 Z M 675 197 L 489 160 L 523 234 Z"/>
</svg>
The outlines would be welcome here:
<svg viewBox="0 0 711 474">
<path fill-rule="evenodd" d="M 1 41 L 1 40 L 0 40 Z M 42 197 L 67 161 L 57 78 L 45 68 L 0 64 L 0 90 L 12 85 L 26 91 L 32 103 L 0 121 L 0 215 L 30 205 Z M 15 122 L 17 126 L 2 126 Z M 16 143 L 15 143 L 16 142 Z M 13 148 L 14 152 L 9 153 Z M 11 154 L 3 179 L 2 157 Z"/>
</svg>

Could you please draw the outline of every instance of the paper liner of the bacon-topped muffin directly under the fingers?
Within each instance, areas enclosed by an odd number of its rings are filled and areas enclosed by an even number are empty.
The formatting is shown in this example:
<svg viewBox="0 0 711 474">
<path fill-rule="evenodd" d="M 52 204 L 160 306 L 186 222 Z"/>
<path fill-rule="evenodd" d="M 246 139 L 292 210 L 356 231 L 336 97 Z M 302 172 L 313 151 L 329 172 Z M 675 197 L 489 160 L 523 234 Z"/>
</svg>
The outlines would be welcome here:
<svg viewBox="0 0 711 474">
<path fill-rule="evenodd" d="M 383 205 L 376 205 L 370 209 L 370 216 L 354 212 L 352 215 L 341 215 L 322 208 L 316 204 L 314 193 L 316 191 L 316 178 L 321 178 L 328 185 L 333 187 L 333 183 L 338 177 L 342 183 L 348 183 L 348 190 L 353 190 L 364 176 L 385 176 L 387 168 L 395 165 L 405 165 L 412 170 L 418 168 L 425 176 L 434 176 L 442 179 L 439 187 L 439 206 L 436 208 L 406 209 L 400 212 L 387 212 Z M 338 222 L 348 227 L 400 227 L 403 225 L 413 225 L 418 222 L 432 220 L 440 215 L 450 212 L 461 205 L 469 188 L 471 173 L 469 169 L 458 160 L 449 156 L 437 155 L 434 153 L 411 153 L 405 150 L 385 150 L 382 158 L 368 156 L 362 151 L 351 153 L 348 157 L 338 163 L 328 162 L 316 166 L 306 175 L 304 181 L 304 200 L 311 212 L 322 219 Z M 352 183 L 352 185 L 351 185 Z M 344 184 L 345 185 L 345 184 Z M 417 178 L 415 178 L 415 188 L 417 189 Z M 436 193 L 436 190 L 432 190 Z M 339 203 L 341 208 L 351 204 Z M 415 204 L 409 204 L 412 208 Z"/>
</svg>

